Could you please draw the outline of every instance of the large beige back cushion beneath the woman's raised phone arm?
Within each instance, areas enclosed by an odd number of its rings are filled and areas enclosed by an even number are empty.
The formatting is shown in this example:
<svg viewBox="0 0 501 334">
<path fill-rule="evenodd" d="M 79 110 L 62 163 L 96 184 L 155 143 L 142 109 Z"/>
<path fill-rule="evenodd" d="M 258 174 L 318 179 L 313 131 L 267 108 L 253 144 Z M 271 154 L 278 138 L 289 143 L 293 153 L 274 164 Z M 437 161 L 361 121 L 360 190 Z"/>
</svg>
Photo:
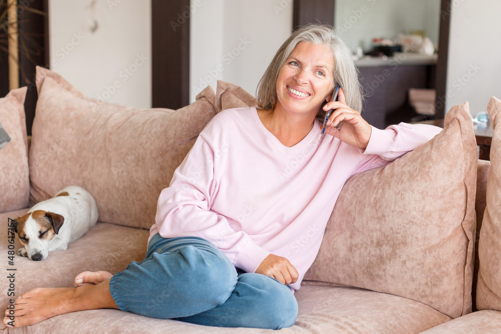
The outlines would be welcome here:
<svg viewBox="0 0 501 334">
<path fill-rule="evenodd" d="M 468 104 L 416 150 L 350 178 L 305 279 L 471 310 L 476 141 Z"/>
</svg>

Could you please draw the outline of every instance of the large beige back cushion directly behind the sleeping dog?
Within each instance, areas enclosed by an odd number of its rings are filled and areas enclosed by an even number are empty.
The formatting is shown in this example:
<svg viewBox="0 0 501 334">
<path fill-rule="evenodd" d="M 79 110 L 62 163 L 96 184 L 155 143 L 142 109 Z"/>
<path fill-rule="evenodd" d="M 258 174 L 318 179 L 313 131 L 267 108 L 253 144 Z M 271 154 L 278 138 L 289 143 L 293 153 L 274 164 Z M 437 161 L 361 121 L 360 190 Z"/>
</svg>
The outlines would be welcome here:
<svg viewBox="0 0 501 334">
<path fill-rule="evenodd" d="M 96 199 L 99 221 L 150 228 L 161 190 L 215 115 L 212 88 L 178 110 L 134 109 L 86 98 L 41 67 L 36 81 L 32 202 L 79 185 Z"/>
</svg>

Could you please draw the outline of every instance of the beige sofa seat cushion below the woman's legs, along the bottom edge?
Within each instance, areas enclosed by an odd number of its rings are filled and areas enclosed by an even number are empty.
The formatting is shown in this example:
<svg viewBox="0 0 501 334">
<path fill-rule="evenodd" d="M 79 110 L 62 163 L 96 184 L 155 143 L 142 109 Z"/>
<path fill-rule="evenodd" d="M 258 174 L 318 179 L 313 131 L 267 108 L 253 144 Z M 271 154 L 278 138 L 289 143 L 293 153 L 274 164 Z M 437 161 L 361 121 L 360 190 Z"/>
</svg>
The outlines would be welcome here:
<svg viewBox="0 0 501 334">
<path fill-rule="evenodd" d="M 417 301 L 349 287 L 307 285 L 296 292 L 296 324 L 280 330 L 222 328 L 153 319 L 112 309 L 60 315 L 26 327 L 26 333 L 417 333 L 450 320 L 450 317 Z"/>
</svg>

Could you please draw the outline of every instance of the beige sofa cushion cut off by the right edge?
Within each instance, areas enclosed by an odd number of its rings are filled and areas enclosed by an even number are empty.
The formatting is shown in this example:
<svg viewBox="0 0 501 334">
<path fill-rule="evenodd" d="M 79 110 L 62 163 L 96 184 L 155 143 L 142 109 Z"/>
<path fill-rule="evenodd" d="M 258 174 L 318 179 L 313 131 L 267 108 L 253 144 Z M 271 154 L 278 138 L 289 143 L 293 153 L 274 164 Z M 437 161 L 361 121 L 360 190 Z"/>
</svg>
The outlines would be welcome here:
<svg viewBox="0 0 501 334">
<path fill-rule="evenodd" d="M 476 291 L 478 309 L 501 310 L 501 100 L 490 99 L 487 112 L 493 134 L 490 170 L 487 177 L 486 207 L 483 214 L 478 257 L 480 269 Z"/>
</svg>

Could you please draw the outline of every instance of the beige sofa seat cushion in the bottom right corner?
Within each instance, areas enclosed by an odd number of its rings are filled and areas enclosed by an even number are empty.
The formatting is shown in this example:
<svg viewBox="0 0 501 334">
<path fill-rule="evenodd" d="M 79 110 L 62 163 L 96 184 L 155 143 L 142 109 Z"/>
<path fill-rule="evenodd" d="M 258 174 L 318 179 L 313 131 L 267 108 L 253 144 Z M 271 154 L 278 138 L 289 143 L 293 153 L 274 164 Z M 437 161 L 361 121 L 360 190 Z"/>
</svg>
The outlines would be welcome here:
<svg viewBox="0 0 501 334">
<path fill-rule="evenodd" d="M 426 334 L 485 334 L 501 329 L 501 312 L 493 309 L 473 312 L 424 331 Z"/>
</svg>

